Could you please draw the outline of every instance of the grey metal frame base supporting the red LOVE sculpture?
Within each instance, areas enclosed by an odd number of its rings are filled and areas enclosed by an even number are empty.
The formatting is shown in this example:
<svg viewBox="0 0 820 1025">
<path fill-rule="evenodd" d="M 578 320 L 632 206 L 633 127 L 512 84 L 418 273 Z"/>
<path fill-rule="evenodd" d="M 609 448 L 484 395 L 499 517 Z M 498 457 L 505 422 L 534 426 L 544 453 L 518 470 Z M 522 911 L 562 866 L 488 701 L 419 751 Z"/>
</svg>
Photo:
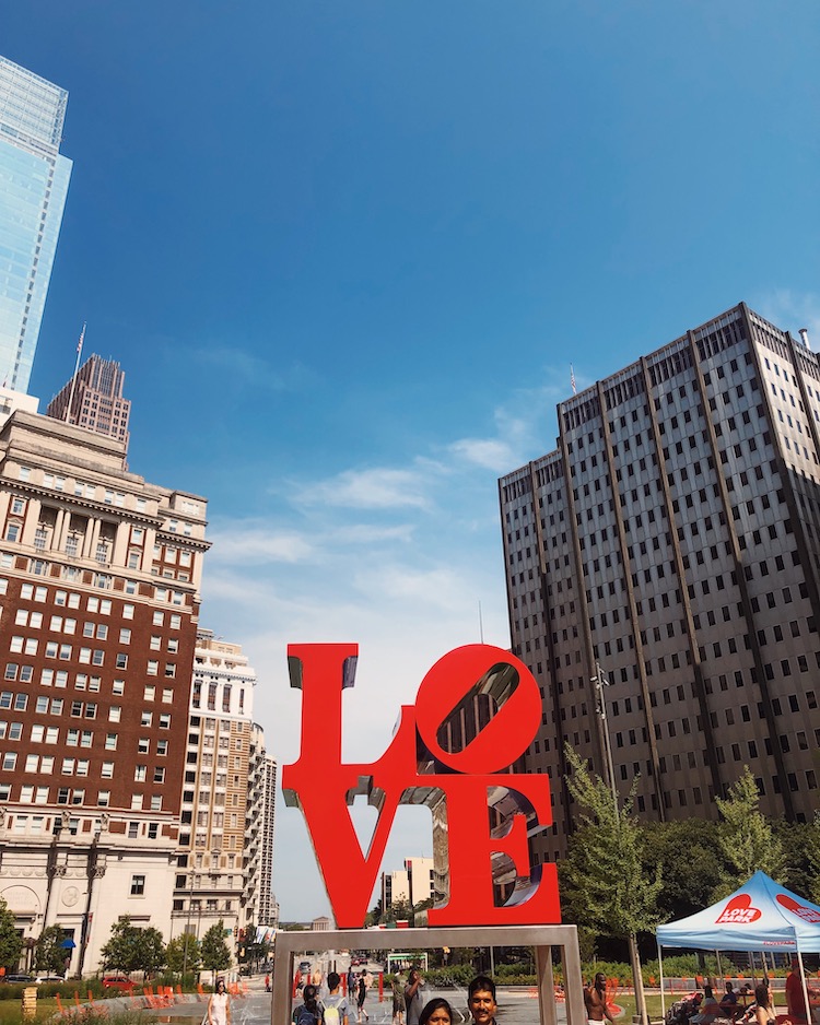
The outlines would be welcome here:
<svg viewBox="0 0 820 1025">
<path fill-rule="evenodd" d="M 584 982 L 581 976 L 578 932 L 575 926 L 493 926 L 467 929 L 340 929 L 332 932 L 277 932 L 273 961 L 271 1025 L 290 1025 L 295 951 L 423 951 L 431 947 L 531 946 L 541 1025 L 558 1025 L 552 947 L 561 949 L 566 1025 L 586 1025 Z"/>
</svg>

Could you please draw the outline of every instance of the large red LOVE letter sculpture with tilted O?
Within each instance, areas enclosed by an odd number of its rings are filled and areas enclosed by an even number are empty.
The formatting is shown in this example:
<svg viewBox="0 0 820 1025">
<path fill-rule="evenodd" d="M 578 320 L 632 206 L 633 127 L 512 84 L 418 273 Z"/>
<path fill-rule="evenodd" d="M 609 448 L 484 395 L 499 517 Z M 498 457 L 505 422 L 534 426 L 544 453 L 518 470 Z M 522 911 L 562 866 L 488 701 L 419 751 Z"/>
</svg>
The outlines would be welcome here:
<svg viewBox="0 0 820 1025">
<path fill-rule="evenodd" d="M 555 865 L 531 865 L 527 844 L 528 829 L 552 824 L 549 777 L 505 771 L 541 722 L 532 673 L 501 648 L 456 648 L 424 676 L 415 705 L 402 707 L 382 757 L 354 765 L 341 761 L 341 695 L 353 686 L 358 657 L 354 644 L 288 647 L 291 686 L 302 690 L 302 742 L 282 789 L 305 816 L 337 926 L 362 928 L 399 804 L 436 809 L 442 799 L 449 898 L 430 909 L 429 923 L 560 922 Z M 358 794 L 378 809 L 366 855 L 350 817 Z M 496 907 L 493 868 L 511 864 L 519 883 Z"/>
</svg>

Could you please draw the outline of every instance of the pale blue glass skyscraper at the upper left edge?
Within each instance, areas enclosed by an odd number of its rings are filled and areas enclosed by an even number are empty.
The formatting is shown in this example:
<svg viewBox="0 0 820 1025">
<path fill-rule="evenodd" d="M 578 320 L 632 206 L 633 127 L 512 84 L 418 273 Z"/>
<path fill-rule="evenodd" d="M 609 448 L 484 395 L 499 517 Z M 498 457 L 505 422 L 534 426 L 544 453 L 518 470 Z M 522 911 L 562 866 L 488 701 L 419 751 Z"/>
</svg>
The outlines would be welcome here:
<svg viewBox="0 0 820 1025">
<path fill-rule="evenodd" d="M 0 384 L 26 391 L 66 204 L 68 93 L 0 57 Z"/>
</svg>

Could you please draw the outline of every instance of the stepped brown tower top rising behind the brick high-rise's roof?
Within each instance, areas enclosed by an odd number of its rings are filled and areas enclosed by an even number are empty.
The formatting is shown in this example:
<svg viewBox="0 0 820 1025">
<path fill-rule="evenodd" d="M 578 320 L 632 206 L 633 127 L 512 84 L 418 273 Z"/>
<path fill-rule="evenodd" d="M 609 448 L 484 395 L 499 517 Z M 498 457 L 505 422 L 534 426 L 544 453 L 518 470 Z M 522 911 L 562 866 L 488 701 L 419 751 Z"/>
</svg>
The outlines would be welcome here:
<svg viewBox="0 0 820 1025">
<path fill-rule="evenodd" d="M 92 355 L 51 399 L 46 416 L 115 438 L 128 448 L 131 401 L 122 398 L 125 379 L 118 363 Z"/>
</svg>

